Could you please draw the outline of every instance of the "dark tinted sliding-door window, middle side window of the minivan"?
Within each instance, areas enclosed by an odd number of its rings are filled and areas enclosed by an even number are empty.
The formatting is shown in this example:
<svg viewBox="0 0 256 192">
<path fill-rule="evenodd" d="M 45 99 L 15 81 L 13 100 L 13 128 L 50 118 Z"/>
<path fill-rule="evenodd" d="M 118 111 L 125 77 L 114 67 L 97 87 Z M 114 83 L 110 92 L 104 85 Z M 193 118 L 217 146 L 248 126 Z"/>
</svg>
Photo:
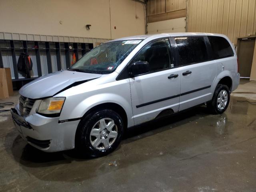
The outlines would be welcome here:
<svg viewBox="0 0 256 192">
<path fill-rule="evenodd" d="M 204 37 L 176 37 L 180 65 L 209 60 Z"/>
</svg>

